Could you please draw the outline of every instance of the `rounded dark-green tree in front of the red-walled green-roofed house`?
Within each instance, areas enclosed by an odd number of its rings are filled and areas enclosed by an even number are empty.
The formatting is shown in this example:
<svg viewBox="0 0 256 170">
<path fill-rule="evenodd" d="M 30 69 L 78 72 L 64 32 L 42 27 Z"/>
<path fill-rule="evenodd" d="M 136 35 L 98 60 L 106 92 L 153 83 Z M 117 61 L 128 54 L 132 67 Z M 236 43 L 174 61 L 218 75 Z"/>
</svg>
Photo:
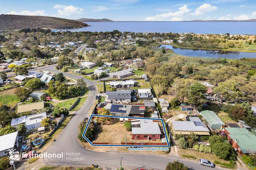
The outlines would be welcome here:
<svg viewBox="0 0 256 170">
<path fill-rule="evenodd" d="M 217 142 L 212 146 L 212 151 L 220 159 L 233 160 L 234 153 L 233 149 L 227 142 Z"/>
</svg>

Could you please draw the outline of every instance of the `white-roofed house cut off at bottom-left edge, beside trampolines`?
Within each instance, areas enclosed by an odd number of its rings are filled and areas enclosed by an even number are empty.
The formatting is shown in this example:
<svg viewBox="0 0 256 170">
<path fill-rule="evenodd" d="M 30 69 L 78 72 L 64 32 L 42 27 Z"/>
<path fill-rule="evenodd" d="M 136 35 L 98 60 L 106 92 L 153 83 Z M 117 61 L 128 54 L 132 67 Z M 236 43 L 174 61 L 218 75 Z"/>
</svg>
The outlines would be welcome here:
<svg viewBox="0 0 256 170">
<path fill-rule="evenodd" d="M 0 136 L 0 158 L 8 156 L 8 150 L 19 146 L 18 144 L 18 132 L 9 133 L 7 135 Z"/>
</svg>

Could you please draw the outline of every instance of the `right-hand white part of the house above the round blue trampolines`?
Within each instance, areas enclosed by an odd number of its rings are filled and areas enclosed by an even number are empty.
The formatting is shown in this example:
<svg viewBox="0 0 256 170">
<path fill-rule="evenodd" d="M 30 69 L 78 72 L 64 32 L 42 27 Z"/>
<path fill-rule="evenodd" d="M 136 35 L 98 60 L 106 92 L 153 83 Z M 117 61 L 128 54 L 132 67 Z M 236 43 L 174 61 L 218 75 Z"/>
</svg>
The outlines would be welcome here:
<svg viewBox="0 0 256 170">
<path fill-rule="evenodd" d="M 46 112 L 29 115 L 26 117 L 25 126 L 28 131 L 41 127 L 41 121 L 46 118 Z"/>
</svg>

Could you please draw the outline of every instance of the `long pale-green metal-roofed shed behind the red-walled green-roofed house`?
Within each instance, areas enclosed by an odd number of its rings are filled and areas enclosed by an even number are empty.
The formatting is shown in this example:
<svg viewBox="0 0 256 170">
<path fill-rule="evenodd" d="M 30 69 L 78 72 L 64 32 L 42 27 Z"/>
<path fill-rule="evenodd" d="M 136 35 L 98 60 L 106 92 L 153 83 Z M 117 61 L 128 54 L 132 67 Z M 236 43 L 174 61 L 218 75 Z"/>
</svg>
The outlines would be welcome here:
<svg viewBox="0 0 256 170">
<path fill-rule="evenodd" d="M 212 129 L 221 129 L 225 123 L 213 112 L 213 111 L 202 111 L 200 114 L 210 125 Z"/>
</svg>

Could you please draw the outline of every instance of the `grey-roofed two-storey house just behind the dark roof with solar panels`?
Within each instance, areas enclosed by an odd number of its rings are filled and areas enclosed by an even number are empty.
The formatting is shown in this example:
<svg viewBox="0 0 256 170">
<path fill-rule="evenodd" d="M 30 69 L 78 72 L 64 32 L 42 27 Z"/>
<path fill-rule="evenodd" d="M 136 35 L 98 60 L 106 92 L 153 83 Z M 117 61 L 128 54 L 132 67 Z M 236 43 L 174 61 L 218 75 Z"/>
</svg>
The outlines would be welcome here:
<svg viewBox="0 0 256 170">
<path fill-rule="evenodd" d="M 113 103 L 131 102 L 131 90 L 106 91 L 105 101 Z"/>
</svg>

